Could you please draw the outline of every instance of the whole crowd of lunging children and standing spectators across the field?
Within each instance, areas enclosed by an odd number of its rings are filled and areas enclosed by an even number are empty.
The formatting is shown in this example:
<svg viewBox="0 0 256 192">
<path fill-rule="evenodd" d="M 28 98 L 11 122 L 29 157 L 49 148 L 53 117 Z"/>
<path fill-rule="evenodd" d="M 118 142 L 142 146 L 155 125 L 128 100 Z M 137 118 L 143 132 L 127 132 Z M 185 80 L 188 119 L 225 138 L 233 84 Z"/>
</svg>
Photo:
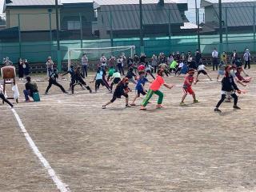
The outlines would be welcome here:
<svg viewBox="0 0 256 192">
<path fill-rule="evenodd" d="M 251 81 L 251 78 L 246 74 L 245 69 L 248 66 L 250 69 L 250 51 L 246 49 L 243 54 L 243 59 L 245 61 L 244 68 L 242 67 L 241 58 L 238 57 L 238 54 L 234 50 L 234 52 L 230 55 L 230 64 L 228 64 L 228 56 L 226 52 L 223 52 L 220 56 L 218 54 L 218 50 L 214 49 L 212 52 L 212 65 L 213 70 L 218 70 L 217 81 L 218 78 L 222 75 L 222 96 L 218 104 L 216 105 L 214 111 L 221 112 L 218 107 L 222 104 L 222 102 L 226 99 L 230 102 L 230 98 L 234 98 L 234 109 L 240 109 L 237 105 L 238 94 L 242 93 L 242 90 L 238 89 L 236 83 L 239 83 L 242 86 L 246 86 L 247 83 Z M 26 102 L 30 102 L 30 97 L 33 97 L 34 93 L 38 93 L 38 87 L 35 82 L 31 82 L 31 78 L 28 75 L 26 69 L 27 60 L 19 59 L 18 61 L 18 70 L 19 70 L 19 78 L 23 78 L 23 75 L 26 75 L 26 90 L 24 90 L 24 95 L 26 98 Z M 82 89 L 89 90 L 90 93 L 93 93 L 90 86 L 86 84 L 85 78 L 88 76 L 88 67 L 89 58 L 86 54 L 82 55 L 81 58 L 81 66 L 70 66 L 70 69 L 65 74 L 58 74 L 58 70 L 56 66 L 54 66 L 54 62 L 51 57 L 47 58 L 46 68 L 47 68 L 47 79 L 49 81 L 49 85 L 46 88 L 45 94 L 48 94 L 50 87 L 52 85 L 58 86 L 64 94 L 68 94 L 69 92 L 64 89 L 64 87 L 58 82 L 58 76 L 64 76 L 66 74 L 70 74 L 70 87 L 71 93 L 74 94 L 74 86 L 81 86 Z M 186 103 L 184 102 L 187 94 L 190 94 L 193 98 L 193 102 L 197 103 L 198 99 L 192 89 L 192 85 L 196 85 L 198 82 L 198 76 L 200 74 L 204 74 L 207 78 L 212 81 L 212 78 L 208 74 L 207 71 L 209 69 L 202 62 L 202 54 L 199 50 L 196 50 L 193 55 L 191 51 L 188 51 L 187 54 L 176 53 L 169 54 L 166 56 L 164 53 L 153 54 L 150 58 L 146 58 L 145 54 L 134 54 L 134 57 L 128 56 L 122 53 L 118 58 L 114 56 L 110 56 L 110 58 L 106 58 L 104 54 L 102 57 L 98 59 L 98 69 L 94 76 L 94 79 L 90 81 L 90 83 L 94 83 L 95 93 L 98 92 L 100 86 L 106 87 L 106 89 L 113 93 L 113 98 L 110 102 L 107 102 L 102 106 L 102 109 L 106 109 L 106 106 L 113 103 L 117 98 L 121 98 L 124 96 L 126 98 L 126 107 L 135 106 L 135 101 L 141 95 L 146 95 L 141 104 L 141 110 L 146 110 L 146 105 L 150 101 L 150 98 L 153 94 L 158 95 L 158 105 L 157 108 L 162 108 L 162 100 L 163 94 L 160 91 L 161 86 L 165 86 L 168 89 L 174 87 L 174 85 L 166 84 L 163 76 L 164 74 L 168 77 L 172 74 L 174 76 L 178 76 L 180 74 L 185 75 L 185 80 L 183 82 L 182 90 L 184 94 L 182 95 L 180 105 L 184 106 Z M 127 73 L 125 74 L 125 68 L 127 69 Z M 20 72 L 23 71 L 23 72 Z M 196 77 L 194 77 L 194 74 Z M 242 73 L 245 74 L 246 77 L 242 76 Z M 147 75 L 153 79 L 150 81 L 147 78 Z M 123 76 L 123 77 L 122 77 Z M 146 82 L 150 82 L 149 90 L 146 90 L 145 84 Z M 129 104 L 129 92 L 131 91 L 129 87 L 129 83 L 133 83 L 135 86 L 136 94 L 133 98 L 133 101 Z M 114 88 L 115 86 L 115 88 Z M 2 92 L 0 92 L 2 93 Z M 29 97 L 30 96 L 30 97 Z M 2 95 L 1 95 L 2 97 Z M 2 98 L 6 99 L 6 98 Z"/>
</svg>

